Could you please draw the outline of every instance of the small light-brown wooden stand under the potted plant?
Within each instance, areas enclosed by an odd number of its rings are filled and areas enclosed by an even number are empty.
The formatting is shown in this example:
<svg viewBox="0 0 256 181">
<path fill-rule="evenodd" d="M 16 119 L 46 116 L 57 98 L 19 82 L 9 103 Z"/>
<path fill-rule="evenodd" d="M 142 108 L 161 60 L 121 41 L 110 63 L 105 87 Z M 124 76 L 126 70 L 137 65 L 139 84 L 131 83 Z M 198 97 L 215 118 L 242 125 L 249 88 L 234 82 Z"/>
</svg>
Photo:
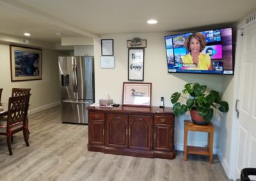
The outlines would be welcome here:
<svg viewBox="0 0 256 181">
<path fill-rule="evenodd" d="M 188 131 L 204 131 L 208 133 L 207 147 L 187 146 Z M 214 126 L 210 122 L 207 126 L 193 124 L 191 120 L 184 120 L 184 161 L 187 161 L 187 154 L 196 154 L 210 156 L 212 163 L 212 148 L 213 148 Z"/>
</svg>

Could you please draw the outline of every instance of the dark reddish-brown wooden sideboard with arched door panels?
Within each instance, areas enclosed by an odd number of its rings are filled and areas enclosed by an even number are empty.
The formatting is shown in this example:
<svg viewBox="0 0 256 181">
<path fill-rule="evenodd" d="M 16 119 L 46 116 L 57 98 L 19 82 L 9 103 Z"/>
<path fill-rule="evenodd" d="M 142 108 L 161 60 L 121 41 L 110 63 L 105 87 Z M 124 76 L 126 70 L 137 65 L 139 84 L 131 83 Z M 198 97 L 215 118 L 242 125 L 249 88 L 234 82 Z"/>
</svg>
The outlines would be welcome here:
<svg viewBox="0 0 256 181">
<path fill-rule="evenodd" d="M 172 108 L 88 106 L 88 150 L 174 159 Z"/>
</svg>

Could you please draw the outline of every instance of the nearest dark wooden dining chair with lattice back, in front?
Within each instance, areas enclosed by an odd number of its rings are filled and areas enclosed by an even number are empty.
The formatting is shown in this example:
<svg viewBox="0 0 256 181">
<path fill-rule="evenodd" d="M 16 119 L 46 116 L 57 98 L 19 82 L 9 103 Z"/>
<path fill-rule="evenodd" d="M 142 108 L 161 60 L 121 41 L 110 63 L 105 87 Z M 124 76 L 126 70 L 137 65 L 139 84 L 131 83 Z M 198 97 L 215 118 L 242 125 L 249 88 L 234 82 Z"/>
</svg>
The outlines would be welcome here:
<svg viewBox="0 0 256 181">
<path fill-rule="evenodd" d="M 19 131 L 23 131 L 24 141 L 29 147 L 26 119 L 28 117 L 30 95 L 9 98 L 7 118 L 0 122 L 0 135 L 6 136 L 10 156 L 12 156 L 11 136 Z M 5 118 L 2 117 L 1 119 Z"/>
</svg>

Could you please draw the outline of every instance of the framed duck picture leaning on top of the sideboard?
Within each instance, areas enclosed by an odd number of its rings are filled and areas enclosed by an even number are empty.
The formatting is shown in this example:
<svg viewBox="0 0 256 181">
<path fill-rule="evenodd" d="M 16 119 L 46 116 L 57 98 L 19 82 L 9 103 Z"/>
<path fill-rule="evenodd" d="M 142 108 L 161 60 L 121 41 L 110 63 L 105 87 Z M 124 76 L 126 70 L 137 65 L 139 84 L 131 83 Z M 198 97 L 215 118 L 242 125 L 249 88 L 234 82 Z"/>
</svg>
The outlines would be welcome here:
<svg viewBox="0 0 256 181">
<path fill-rule="evenodd" d="M 123 105 L 151 106 L 152 83 L 124 82 Z"/>
</svg>

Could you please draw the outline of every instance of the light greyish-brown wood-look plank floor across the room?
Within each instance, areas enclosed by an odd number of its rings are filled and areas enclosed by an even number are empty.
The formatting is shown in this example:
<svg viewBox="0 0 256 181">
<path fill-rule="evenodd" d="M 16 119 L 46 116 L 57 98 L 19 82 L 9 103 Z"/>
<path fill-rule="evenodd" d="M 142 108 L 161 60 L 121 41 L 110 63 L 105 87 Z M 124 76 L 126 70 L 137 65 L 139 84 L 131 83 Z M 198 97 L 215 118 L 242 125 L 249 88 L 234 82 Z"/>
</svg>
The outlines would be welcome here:
<svg viewBox="0 0 256 181">
<path fill-rule="evenodd" d="M 60 107 L 29 116 L 29 144 L 0 137 L 0 180 L 228 180 L 218 157 L 147 159 L 88 152 L 88 126 L 61 124 Z"/>
</svg>

